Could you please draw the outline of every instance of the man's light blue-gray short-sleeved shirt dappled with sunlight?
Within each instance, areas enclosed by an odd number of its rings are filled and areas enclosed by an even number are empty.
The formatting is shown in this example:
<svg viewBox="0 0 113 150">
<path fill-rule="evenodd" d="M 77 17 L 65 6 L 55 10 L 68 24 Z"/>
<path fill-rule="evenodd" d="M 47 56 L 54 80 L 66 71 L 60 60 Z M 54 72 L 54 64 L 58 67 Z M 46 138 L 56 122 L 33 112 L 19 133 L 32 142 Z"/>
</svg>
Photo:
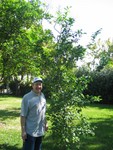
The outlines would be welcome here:
<svg viewBox="0 0 113 150">
<path fill-rule="evenodd" d="M 33 137 L 44 135 L 46 99 L 31 91 L 23 97 L 21 116 L 26 117 L 26 132 Z"/>
</svg>

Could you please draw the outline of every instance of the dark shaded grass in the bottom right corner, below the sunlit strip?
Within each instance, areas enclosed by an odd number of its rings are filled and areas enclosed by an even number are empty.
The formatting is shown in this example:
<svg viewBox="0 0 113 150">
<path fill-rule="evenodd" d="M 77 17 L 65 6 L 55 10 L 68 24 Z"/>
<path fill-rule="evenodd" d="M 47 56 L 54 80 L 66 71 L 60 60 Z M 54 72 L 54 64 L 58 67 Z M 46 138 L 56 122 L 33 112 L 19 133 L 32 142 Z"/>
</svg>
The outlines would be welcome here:
<svg viewBox="0 0 113 150">
<path fill-rule="evenodd" d="M 94 120 L 94 119 L 93 119 Z M 85 137 L 81 146 L 82 150 L 113 150 L 113 118 L 100 118 L 95 126 L 95 136 Z"/>
</svg>

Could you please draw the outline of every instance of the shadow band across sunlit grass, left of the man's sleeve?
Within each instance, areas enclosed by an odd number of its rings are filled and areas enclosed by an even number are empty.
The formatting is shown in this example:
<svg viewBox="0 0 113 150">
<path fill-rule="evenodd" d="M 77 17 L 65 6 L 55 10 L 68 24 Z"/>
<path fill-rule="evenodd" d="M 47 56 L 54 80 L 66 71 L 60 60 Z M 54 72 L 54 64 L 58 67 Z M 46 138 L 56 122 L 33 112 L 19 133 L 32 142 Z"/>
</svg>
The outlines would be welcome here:
<svg viewBox="0 0 113 150">
<path fill-rule="evenodd" d="M 0 110 L 0 120 L 4 121 L 6 119 L 14 119 L 20 116 L 20 108 L 11 108 L 8 110 Z"/>
</svg>

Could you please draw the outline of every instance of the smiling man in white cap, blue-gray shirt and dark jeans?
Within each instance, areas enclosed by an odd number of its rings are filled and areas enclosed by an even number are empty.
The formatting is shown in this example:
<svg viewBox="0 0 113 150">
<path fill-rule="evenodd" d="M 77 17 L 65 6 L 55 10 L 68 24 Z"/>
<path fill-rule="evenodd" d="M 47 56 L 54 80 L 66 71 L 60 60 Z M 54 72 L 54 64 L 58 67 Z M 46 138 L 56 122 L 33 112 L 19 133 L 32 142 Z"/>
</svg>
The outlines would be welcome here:
<svg viewBox="0 0 113 150">
<path fill-rule="evenodd" d="M 42 137 L 48 128 L 42 82 L 41 78 L 34 78 L 31 92 L 24 95 L 22 100 L 20 120 L 23 150 L 41 150 Z"/>
</svg>

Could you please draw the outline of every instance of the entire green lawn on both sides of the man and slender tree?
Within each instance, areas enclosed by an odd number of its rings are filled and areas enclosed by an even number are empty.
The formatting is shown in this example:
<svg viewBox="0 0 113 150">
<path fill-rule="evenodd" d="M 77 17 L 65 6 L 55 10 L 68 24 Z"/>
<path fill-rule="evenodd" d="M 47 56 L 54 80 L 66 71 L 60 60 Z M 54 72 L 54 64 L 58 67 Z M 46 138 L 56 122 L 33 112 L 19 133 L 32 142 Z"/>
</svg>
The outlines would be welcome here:
<svg viewBox="0 0 113 150">
<path fill-rule="evenodd" d="M 0 96 L 0 150 L 21 150 L 20 135 L 21 98 Z M 81 150 L 113 150 L 113 106 L 93 104 L 83 114 L 96 126 L 95 136 L 82 141 Z M 50 133 L 44 137 L 43 150 L 52 148 Z"/>
</svg>

